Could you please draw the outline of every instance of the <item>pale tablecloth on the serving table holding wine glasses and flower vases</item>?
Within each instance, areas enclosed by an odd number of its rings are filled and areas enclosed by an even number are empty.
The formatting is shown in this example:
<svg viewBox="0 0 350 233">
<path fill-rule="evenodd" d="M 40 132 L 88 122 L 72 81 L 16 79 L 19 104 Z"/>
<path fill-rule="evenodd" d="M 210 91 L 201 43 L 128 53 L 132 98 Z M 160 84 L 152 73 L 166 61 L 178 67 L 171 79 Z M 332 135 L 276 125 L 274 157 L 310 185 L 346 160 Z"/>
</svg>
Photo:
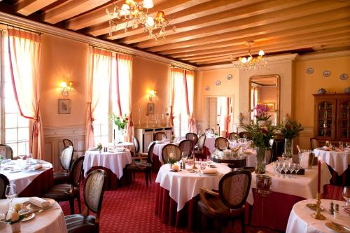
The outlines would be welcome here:
<svg viewBox="0 0 350 233">
<path fill-rule="evenodd" d="M 274 163 L 266 166 L 267 176 L 272 177 L 272 191 L 281 192 L 287 195 L 294 195 L 298 197 L 304 197 L 305 199 L 316 198 L 317 194 L 317 166 L 312 169 L 305 169 L 304 175 L 292 175 L 292 178 L 283 178 L 281 174 L 276 174 L 274 171 Z M 288 176 L 288 175 L 287 175 Z M 321 163 L 321 192 L 323 191 L 323 185 L 330 183 L 332 175 L 327 165 Z M 251 190 L 249 191 L 247 202 L 253 204 L 253 190 L 256 188 L 255 172 L 251 174 Z"/>
</svg>

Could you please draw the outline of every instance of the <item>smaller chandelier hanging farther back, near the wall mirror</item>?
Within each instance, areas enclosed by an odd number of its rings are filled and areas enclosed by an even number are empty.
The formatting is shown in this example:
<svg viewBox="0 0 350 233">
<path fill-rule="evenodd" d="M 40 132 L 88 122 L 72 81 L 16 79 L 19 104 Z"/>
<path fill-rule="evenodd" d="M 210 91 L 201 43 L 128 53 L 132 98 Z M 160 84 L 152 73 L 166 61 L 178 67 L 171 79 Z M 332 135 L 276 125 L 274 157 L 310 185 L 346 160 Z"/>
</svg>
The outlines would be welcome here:
<svg viewBox="0 0 350 233">
<path fill-rule="evenodd" d="M 264 50 L 259 50 L 258 56 L 253 57 L 251 55 L 251 45 L 253 45 L 254 41 L 248 41 L 247 45 L 248 48 L 248 57 L 239 57 L 238 61 L 232 61 L 235 68 L 246 68 L 248 69 L 261 69 L 261 68 L 268 68 L 267 67 L 267 58 L 264 57 L 265 52 Z"/>
</svg>

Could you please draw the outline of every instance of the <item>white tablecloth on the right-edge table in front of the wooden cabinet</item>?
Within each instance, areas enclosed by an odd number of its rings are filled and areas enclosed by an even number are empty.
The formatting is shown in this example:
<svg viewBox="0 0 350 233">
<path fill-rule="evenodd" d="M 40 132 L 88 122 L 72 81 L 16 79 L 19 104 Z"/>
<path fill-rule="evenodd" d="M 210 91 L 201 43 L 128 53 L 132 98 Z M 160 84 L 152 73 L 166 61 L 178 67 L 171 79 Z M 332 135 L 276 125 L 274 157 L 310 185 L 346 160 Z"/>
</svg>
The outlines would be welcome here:
<svg viewBox="0 0 350 233">
<path fill-rule="evenodd" d="M 317 148 L 314 150 L 316 157 L 326 162 L 337 174 L 341 176 L 350 164 L 350 152 L 325 151 Z"/>
</svg>

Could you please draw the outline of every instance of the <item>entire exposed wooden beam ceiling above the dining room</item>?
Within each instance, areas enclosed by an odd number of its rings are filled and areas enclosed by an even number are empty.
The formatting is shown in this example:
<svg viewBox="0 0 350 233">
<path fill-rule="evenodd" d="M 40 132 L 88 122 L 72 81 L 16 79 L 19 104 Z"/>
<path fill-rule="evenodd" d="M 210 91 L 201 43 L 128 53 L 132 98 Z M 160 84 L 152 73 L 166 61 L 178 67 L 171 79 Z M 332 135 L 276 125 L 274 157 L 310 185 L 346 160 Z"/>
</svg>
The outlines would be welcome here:
<svg viewBox="0 0 350 233">
<path fill-rule="evenodd" d="M 149 38 L 142 27 L 133 28 L 132 21 L 114 19 L 111 31 L 106 8 L 113 11 L 123 3 L 18 0 L 0 1 L 0 9 L 197 66 L 246 56 L 247 41 L 255 41 L 252 53 L 262 49 L 267 55 L 350 48 L 350 1 L 153 0 L 148 15 L 155 17 L 162 10 L 170 20 L 164 41 Z"/>
</svg>

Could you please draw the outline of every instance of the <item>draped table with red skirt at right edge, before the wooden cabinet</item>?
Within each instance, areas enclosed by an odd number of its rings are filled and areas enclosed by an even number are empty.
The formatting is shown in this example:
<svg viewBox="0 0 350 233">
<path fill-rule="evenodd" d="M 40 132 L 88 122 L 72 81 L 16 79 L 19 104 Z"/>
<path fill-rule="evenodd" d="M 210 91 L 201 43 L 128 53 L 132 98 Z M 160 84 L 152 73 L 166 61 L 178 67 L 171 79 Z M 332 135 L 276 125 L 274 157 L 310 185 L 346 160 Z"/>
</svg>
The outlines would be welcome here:
<svg viewBox="0 0 350 233">
<path fill-rule="evenodd" d="M 330 150 L 328 148 L 316 148 L 313 151 L 316 157 L 326 162 L 332 172 L 332 182 L 336 185 L 350 185 L 350 150 L 347 148 Z"/>
</svg>

